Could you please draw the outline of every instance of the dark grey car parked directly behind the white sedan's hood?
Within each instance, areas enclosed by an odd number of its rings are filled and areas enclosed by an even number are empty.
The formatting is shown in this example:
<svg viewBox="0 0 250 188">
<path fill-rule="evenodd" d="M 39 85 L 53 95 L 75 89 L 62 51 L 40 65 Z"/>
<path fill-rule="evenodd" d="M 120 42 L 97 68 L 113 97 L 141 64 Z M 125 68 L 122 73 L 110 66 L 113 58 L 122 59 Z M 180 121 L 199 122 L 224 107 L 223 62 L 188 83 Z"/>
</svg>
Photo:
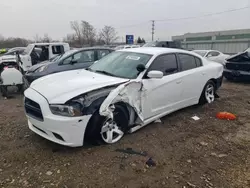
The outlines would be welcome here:
<svg viewBox="0 0 250 188">
<path fill-rule="evenodd" d="M 55 56 L 49 61 L 32 66 L 24 75 L 24 79 L 28 84 L 31 84 L 34 80 L 49 74 L 87 68 L 112 51 L 114 50 L 110 48 L 95 47 L 70 50 L 64 54 Z"/>
</svg>

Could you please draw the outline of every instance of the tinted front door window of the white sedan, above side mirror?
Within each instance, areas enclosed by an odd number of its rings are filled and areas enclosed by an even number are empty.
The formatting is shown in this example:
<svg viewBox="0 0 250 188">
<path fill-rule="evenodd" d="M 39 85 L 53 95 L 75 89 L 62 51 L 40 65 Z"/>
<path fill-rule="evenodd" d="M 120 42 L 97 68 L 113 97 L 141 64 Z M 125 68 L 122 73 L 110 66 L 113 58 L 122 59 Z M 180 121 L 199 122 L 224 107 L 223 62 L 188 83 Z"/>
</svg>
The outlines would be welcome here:
<svg viewBox="0 0 250 188">
<path fill-rule="evenodd" d="M 162 71 L 164 76 L 178 72 L 176 56 L 168 54 L 157 57 L 149 68 L 149 71 L 151 70 Z"/>
</svg>

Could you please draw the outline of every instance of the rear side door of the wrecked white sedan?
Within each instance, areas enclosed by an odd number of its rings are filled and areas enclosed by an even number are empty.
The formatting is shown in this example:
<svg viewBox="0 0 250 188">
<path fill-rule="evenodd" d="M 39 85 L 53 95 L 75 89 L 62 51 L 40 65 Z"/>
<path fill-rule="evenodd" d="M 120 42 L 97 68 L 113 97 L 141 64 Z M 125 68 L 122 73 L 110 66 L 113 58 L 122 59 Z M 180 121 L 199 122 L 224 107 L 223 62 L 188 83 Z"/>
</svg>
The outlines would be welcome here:
<svg viewBox="0 0 250 188">
<path fill-rule="evenodd" d="M 178 61 L 181 67 L 183 92 L 182 107 L 198 103 L 203 87 L 208 81 L 206 68 L 202 59 L 190 54 L 179 53 Z"/>
</svg>

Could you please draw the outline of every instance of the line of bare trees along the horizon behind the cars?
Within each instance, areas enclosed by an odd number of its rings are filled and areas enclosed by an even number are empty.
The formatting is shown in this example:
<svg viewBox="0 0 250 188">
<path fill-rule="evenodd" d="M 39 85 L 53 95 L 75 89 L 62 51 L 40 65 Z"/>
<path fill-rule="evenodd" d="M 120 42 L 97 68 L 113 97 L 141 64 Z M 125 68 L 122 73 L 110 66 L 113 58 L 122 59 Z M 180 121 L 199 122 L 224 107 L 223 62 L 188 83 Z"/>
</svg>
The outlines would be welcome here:
<svg viewBox="0 0 250 188">
<path fill-rule="evenodd" d="M 72 21 L 70 22 L 70 27 L 72 33 L 67 34 L 63 38 L 64 42 L 67 42 L 72 47 L 84 47 L 84 46 L 94 46 L 94 45 L 109 45 L 116 42 L 119 37 L 114 27 L 105 25 L 102 29 L 97 31 L 97 29 L 91 25 L 89 22 Z M 0 48 L 12 48 L 17 46 L 27 46 L 29 43 L 34 42 L 56 42 L 48 34 L 44 34 L 43 37 L 35 35 L 32 40 L 19 38 L 19 37 L 9 37 L 4 38 L 0 35 Z M 138 38 L 137 43 L 145 43 L 143 38 Z"/>
</svg>

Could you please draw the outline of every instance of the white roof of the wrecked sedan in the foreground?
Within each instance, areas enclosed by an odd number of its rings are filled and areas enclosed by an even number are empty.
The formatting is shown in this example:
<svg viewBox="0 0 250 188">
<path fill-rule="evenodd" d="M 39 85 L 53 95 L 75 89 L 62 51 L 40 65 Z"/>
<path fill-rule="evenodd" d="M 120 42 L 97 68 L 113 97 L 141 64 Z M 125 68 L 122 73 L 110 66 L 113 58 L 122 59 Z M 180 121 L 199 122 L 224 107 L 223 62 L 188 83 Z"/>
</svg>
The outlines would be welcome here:
<svg viewBox="0 0 250 188">
<path fill-rule="evenodd" d="M 135 53 L 143 53 L 143 54 L 150 54 L 150 55 L 160 55 L 164 53 L 188 53 L 194 54 L 187 50 L 181 50 L 177 48 L 161 48 L 161 47 L 141 47 L 141 48 L 129 48 L 123 49 L 118 51 L 124 52 L 135 52 Z"/>
</svg>

